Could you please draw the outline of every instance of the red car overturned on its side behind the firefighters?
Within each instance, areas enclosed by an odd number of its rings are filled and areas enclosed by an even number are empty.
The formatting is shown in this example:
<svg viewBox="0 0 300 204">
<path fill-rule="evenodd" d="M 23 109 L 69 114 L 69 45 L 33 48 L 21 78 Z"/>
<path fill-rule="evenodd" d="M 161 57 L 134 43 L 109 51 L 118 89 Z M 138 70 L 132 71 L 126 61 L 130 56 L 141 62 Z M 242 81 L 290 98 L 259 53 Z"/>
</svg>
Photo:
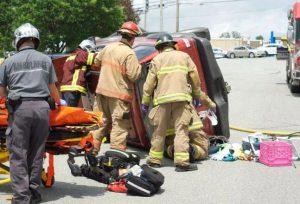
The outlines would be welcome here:
<svg viewBox="0 0 300 204">
<path fill-rule="evenodd" d="M 230 135 L 228 122 L 228 92 L 222 73 L 214 58 L 209 40 L 191 35 L 180 35 L 177 38 L 176 35 L 174 35 L 174 37 L 178 42 L 177 49 L 188 53 L 197 65 L 201 80 L 201 89 L 207 93 L 217 105 L 218 124 L 213 127 L 209 120 L 204 120 L 204 131 L 208 135 L 223 135 L 228 138 Z M 118 38 L 116 37 L 100 40 L 97 42 L 97 49 L 101 50 L 107 44 L 117 40 Z M 133 46 L 133 49 L 142 64 L 142 74 L 134 86 L 135 97 L 132 102 L 132 130 L 129 135 L 129 142 L 132 145 L 143 148 L 149 148 L 153 131 L 148 122 L 148 118 L 142 116 L 140 104 L 142 100 L 143 84 L 147 77 L 150 61 L 157 55 L 157 51 L 154 47 L 155 42 L 156 39 L 153 37 L 138 37 Z M 67 55 L 52 56 L 59 83 L 62 80 L 63 64 L 67 57 Z M 90 96 L 95 94 L 99 74 L 101 74 L 101 71 L 90 71 L 89 73 L 88 90 Z M 200 107 L 197 111 L 204 109 L 205 107 Z"/>
</svg>

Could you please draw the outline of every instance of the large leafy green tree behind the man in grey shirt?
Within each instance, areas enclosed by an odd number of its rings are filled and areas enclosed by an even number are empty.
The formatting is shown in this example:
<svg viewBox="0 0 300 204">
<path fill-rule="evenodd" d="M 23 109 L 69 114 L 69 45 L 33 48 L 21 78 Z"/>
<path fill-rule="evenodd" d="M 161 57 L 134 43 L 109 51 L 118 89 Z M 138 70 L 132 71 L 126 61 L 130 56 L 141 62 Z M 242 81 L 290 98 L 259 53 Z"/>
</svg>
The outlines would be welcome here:
<svg viewBox="0 0 300 204">
<path fill-rule="evenodd" d="M 13 30 L 25 22 L 39 29 L 40 50 L 56 53 L 73 50 L 90 36 L 107 36 L 125 19 L 119 0 L 2 0 L 0 9 L 0 20 L 5 17 L 1 24 L 9 24 L 0 27 L 5 36 L 0 35 L 0 44 L 6 50 L 11 48 L 7 39 Z"/>
</svg>

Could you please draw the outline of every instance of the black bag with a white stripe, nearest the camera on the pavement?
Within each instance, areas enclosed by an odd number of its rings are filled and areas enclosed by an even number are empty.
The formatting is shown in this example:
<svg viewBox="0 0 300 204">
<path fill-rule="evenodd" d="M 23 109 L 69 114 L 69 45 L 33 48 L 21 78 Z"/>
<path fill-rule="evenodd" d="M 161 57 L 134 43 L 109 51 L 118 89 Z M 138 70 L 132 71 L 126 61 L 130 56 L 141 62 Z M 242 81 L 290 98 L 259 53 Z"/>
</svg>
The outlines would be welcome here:
<svg viewBox="0 0 300 204">
<path fill-rule="evenodd" d="M 158 191 L 153 184 L 138 176 L 128 177 L 125 186 L 127 188 L 127 193 L 131 195 L 149 197 Z"/>
</svg>

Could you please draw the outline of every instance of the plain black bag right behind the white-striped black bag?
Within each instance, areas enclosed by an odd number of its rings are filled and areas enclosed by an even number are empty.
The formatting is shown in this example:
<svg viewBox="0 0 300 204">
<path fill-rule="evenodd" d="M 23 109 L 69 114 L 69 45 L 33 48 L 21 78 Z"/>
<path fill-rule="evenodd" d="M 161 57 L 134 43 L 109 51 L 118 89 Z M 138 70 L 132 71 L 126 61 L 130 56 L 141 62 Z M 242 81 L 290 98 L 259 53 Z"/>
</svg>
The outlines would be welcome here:
<svg viewBox="0 0 300 204">
<path fill-rule="evenodd" d="M 165 177 L 162 175 L 162 173 L 149 167 L 146 164 L 142 165 L 141 168 L 143 169 L 141 174 L 142 178 L 150 182 L 157 189 L 163 185 Z"/>
</svg>

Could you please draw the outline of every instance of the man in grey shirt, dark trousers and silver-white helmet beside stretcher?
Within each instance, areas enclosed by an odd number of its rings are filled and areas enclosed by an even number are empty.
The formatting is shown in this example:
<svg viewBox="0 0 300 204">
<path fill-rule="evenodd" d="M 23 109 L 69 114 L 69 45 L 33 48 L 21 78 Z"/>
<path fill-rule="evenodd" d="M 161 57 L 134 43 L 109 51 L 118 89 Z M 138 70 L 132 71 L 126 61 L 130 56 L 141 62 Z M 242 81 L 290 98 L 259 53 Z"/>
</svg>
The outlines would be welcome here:
<svg viewBox="0 0 300 204">
<path fill-rule="evenodd" d="M 60 104 L 51 59 L 36 49 L 38 30 L 29 23 L 14 32 L 18 51 L 0 67 L 0 96 L 7 96 L 9 111 L 6 144 L 9 150 L 12 203 L 41 201 L 39 185 L 44 148 L 49 134 L 51 95 Z"/>
</svg>

